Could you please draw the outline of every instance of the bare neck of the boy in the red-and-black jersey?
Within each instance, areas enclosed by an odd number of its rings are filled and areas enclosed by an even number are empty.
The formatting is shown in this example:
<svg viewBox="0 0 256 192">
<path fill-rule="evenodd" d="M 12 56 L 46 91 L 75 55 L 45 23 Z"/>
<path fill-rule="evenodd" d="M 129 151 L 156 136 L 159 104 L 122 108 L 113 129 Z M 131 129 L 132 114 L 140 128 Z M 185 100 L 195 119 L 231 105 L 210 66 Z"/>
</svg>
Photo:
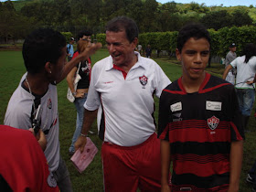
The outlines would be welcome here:
<svg viewBox="0 0 256 192">
<path fill-rule="evenodd" d="M 199 91 L 199 88 L 200 88 L 201 84 L 203 83 L 203 81 L 205 80 L 205 77 L 206 77 L 206 73 L 204 73 L 204 75 L 200 79 L 197 79 L 197 80 L 193 80 L 193 79 L 183 76 L 182 84 L 183 84 L 184 89 L 187 91 L 187 93 L 193 93 L 193 92 Z"/>
</svg>

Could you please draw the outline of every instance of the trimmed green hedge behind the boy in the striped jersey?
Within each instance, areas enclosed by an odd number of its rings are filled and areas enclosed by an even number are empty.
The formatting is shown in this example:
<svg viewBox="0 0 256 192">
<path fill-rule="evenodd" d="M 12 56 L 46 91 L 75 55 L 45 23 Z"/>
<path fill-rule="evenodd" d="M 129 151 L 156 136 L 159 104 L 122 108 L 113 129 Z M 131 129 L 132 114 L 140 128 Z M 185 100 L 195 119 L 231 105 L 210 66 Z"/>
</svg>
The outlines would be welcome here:
<svg viewBox="0 0 256 192">
<path fill-rule="evenodd" d="M 218 31 L 208 29 L 211 37 L 211 55 L 226 57 L 229 45 L 238 45 L 237 54 L 240 55 L 242 48 L 247 43 L 256 43 L 256 27 L 223 27 Z M 139 35 L 139 44 L 146 48 L 148 44 L 152 49 L 167 50 L 169 53 L 176 51 L 176 38 L 178 32 L 152 32 Z M 159 52 L 159 51 L 158 51 Z"/>
</svg>

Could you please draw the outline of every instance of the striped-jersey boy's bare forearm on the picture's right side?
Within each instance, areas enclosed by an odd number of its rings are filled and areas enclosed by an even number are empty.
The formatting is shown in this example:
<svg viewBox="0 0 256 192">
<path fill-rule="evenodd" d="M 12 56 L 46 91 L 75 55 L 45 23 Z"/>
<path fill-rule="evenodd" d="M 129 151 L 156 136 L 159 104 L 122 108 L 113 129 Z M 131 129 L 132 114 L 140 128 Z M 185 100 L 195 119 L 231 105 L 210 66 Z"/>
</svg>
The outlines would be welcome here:
<svg viewBox="0 0 256 192">
<path fill-rule="evenodd" d="M 229 177 L 229 190 L 228 192 L 239 191 L 240 187 L 240 171 L 242 164 L 242 151 L 243 141 L 234 141 L 231 143 L 230 149 L 230 177 Z"/>
</svg>

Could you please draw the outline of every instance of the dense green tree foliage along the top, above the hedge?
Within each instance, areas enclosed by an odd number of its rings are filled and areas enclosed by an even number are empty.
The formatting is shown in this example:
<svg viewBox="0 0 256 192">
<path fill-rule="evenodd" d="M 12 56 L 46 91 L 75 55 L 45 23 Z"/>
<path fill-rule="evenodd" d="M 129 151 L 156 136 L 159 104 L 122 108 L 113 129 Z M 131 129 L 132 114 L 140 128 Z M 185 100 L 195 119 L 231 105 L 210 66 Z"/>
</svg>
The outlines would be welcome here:
<svg viewBox="0 0 256 192">
<path fill-rule="evenodd" d="M 16 8 L 16 6 L 18 8 Z M 35 27 L 55 27 L 76 36 L 81 27 L 104 33 L 114 16 L 130 16 L 140 33 L 177 31 L 189 22 L 222 27 L 253 25 L 256 8 L 224 8 L 205 4 L 159 4 L 156 0 L 10 0 L 0 3 L 0 37 L 20 38 Z M 61 27 L 61 28 L 60 28 Z"/>
</svg>

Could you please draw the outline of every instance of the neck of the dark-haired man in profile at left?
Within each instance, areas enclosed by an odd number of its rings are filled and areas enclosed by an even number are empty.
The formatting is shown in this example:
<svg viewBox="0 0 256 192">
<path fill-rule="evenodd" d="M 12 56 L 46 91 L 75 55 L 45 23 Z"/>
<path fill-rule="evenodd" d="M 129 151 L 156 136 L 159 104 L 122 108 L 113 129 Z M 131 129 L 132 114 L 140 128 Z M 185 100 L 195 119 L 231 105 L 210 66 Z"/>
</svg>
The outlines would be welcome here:
<svg viewBox="0 0 256 192">
<path fill-rule="evenodd" d="M 37 95 L 42 95 L 46 91 L 48 91 L 49 81 L 41 74 L 33 75 L 30 73 L 27 73 L 26 79 L 27 80 L 25 80 L 25 86 L 27 87 L 28 90 L 30 88 L 30 91 L 32 93 Z"/>
</svg>

